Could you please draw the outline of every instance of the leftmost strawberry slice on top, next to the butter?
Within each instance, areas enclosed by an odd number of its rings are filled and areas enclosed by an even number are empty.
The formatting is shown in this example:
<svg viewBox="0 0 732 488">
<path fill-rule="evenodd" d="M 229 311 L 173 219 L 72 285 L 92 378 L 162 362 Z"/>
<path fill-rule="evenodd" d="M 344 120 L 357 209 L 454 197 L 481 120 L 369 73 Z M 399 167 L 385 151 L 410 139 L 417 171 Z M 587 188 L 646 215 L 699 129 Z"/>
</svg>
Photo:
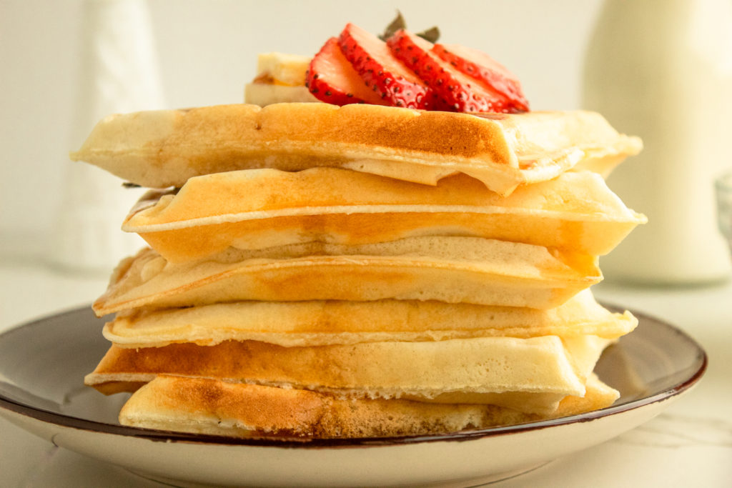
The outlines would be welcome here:
<svg viewBox="0 0 732 488">
<path fill-rule="evenodd" d="M 378 94 L 367 88 L 346 56 L 343 56 L 335 37 L 327 40 L 310 61 L 305 73 L 305 86 L 315 98 L 333 105 L 364 102 L 386 105 Z"/>
</svg>

